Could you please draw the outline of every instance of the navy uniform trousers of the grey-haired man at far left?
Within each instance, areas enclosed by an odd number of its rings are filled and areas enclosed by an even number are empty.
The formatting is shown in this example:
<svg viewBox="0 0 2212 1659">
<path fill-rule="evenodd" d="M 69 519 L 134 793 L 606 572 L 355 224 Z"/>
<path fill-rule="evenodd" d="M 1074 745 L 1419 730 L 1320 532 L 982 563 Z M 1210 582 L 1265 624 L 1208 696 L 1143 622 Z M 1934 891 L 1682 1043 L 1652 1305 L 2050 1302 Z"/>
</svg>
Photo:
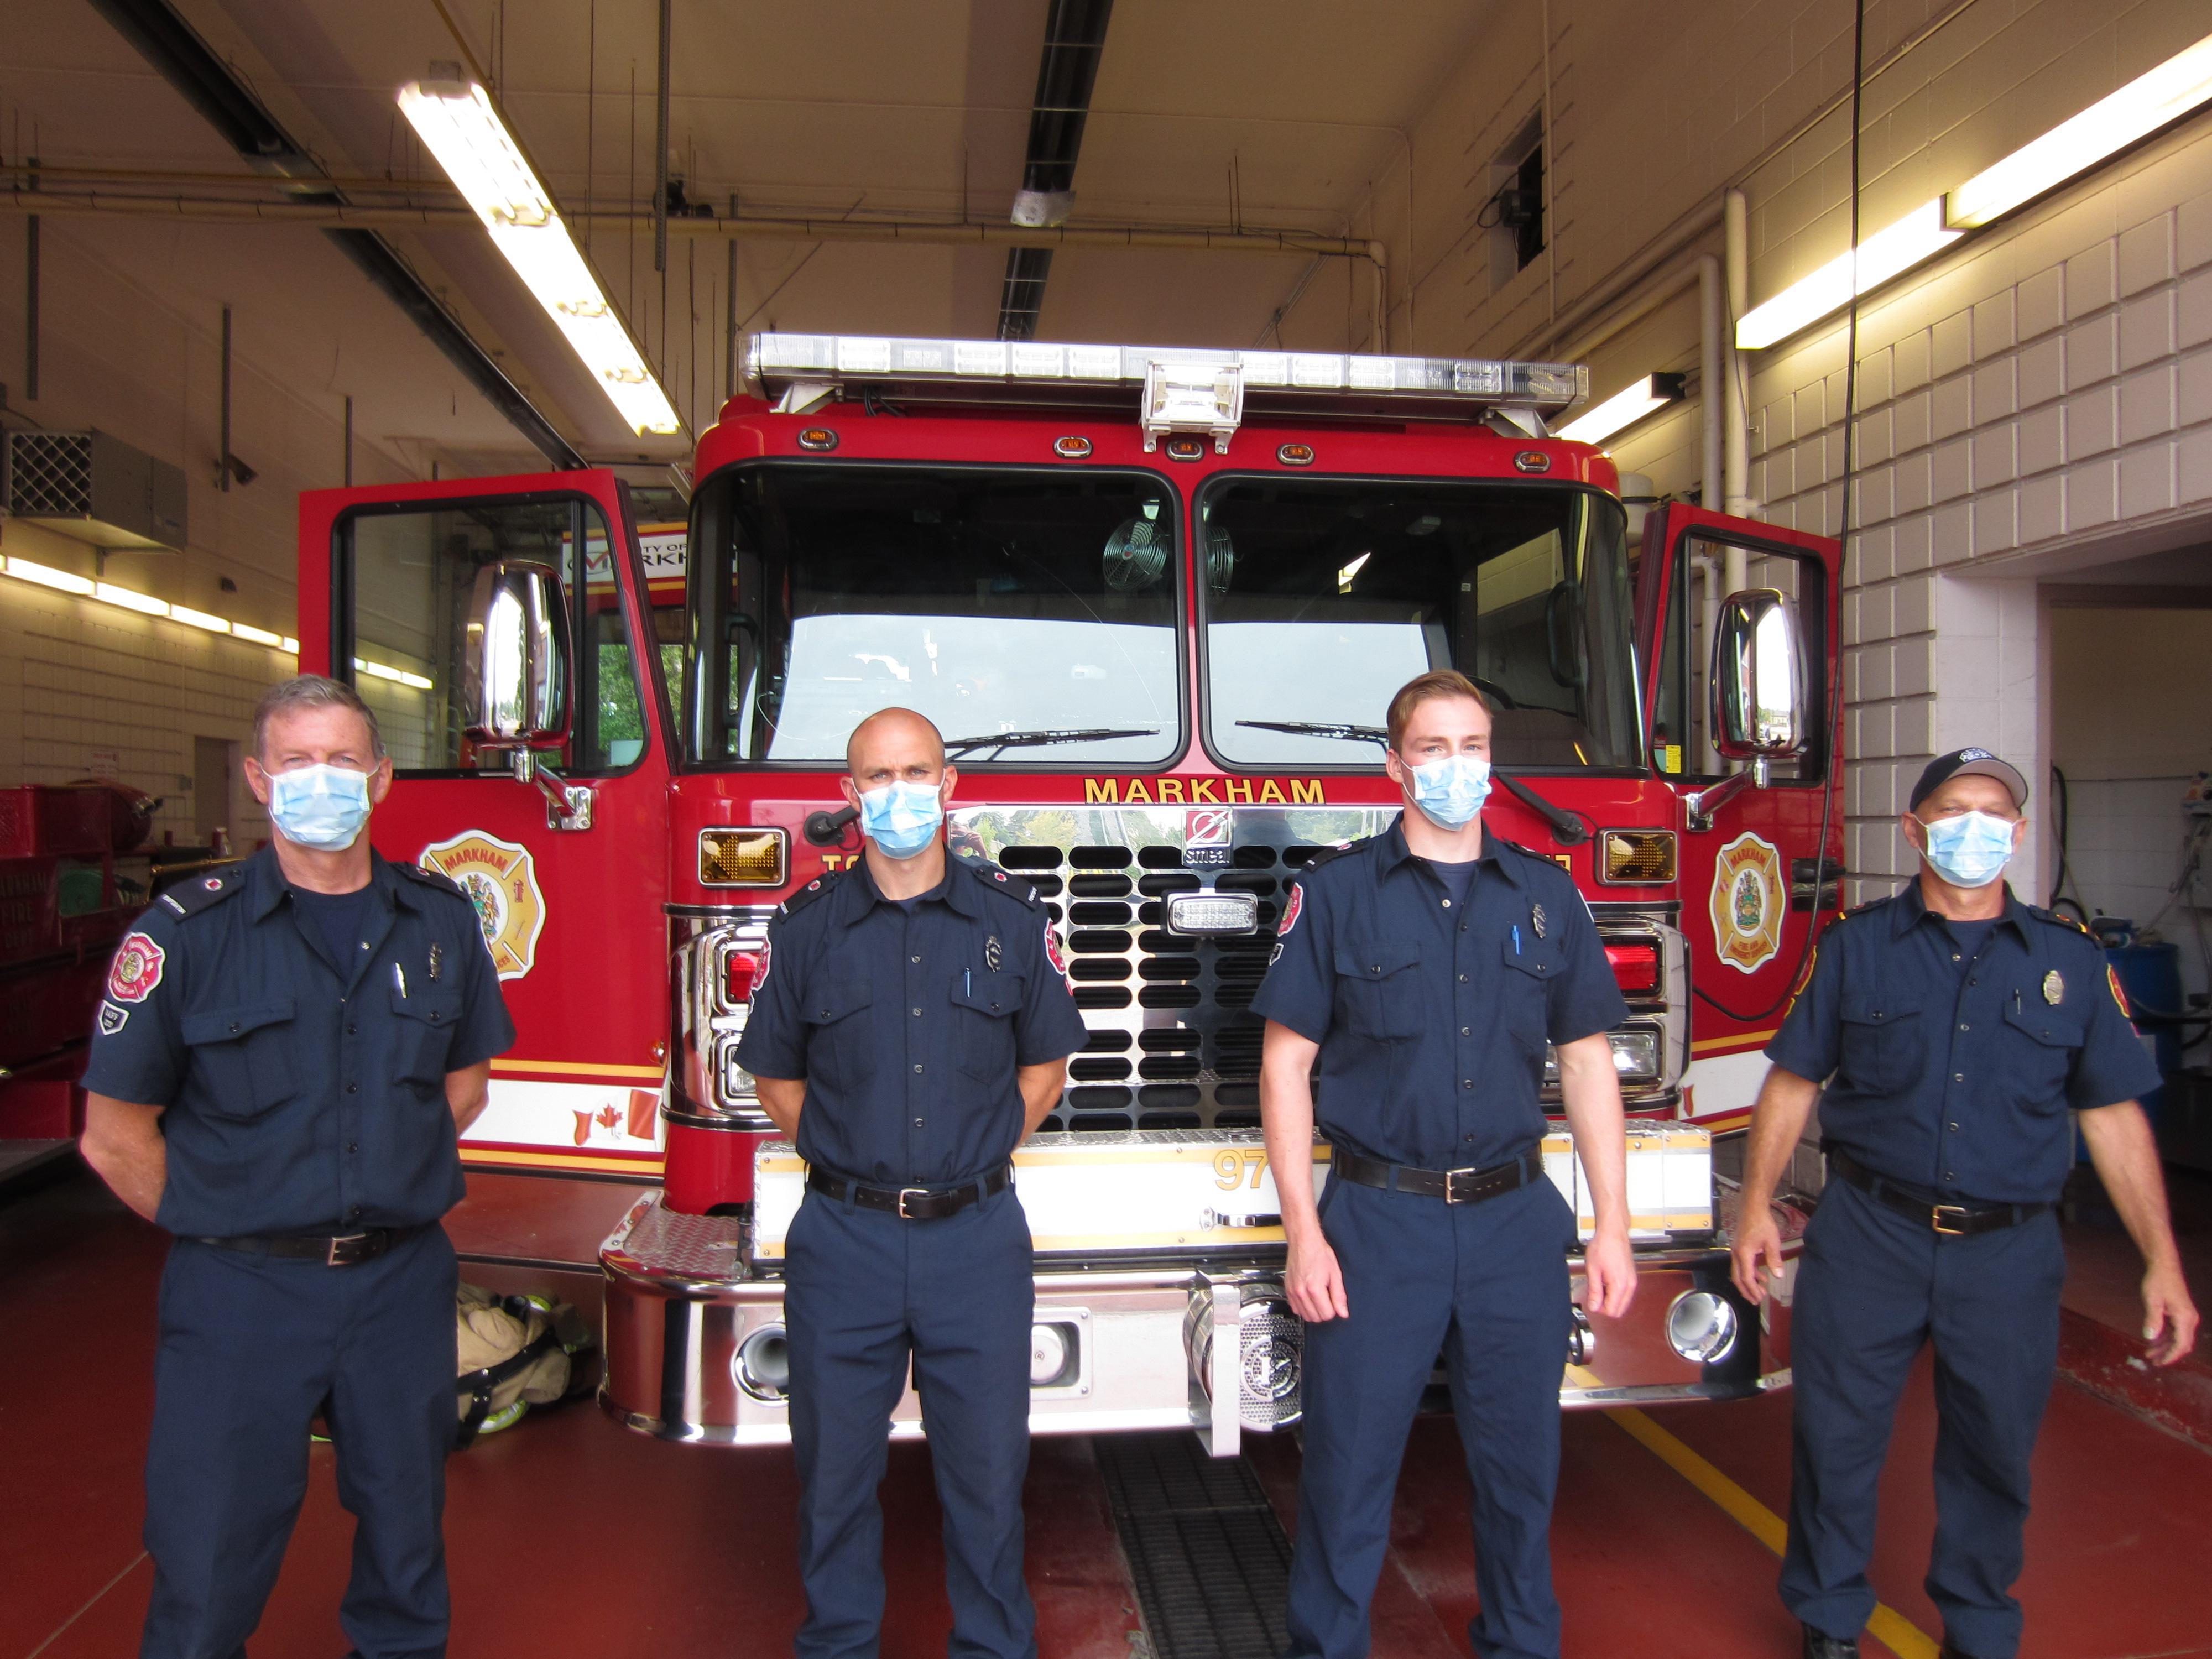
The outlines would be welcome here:
<svg viewBox="0 0 2212 1659">
<path fill-rule="evenodd" d="M 445 1655 L 453 1287 L 453 1245 L 436 1225 L 356 1267 L 170 1245 L 139 1659 L 241 1659 L 307 1495 L 316 1411 L 356 1522 L 338 1624 L 361 1659 Z"/>
</svg>

